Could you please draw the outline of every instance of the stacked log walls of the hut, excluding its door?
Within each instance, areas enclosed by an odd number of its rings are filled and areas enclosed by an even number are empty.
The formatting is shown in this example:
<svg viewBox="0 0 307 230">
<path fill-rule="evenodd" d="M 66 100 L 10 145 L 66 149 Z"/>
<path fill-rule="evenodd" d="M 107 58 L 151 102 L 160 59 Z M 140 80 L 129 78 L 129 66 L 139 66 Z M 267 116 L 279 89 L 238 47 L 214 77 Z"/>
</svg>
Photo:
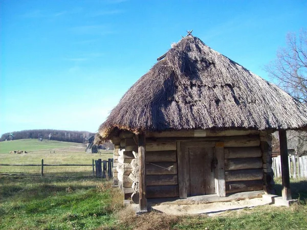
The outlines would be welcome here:
<svg viewBox="0 0 307 230">
<path fill-rule="evenodd" d="M 270 192 L 270 133 L 259 131 L 174 131 L 146 133 L 146 198 L 179 197 L 177 143 L 217 142 L 224 145 L 226 194 L 266 190 Z M 138 199 L 138 140 L 131 132 L 121 132 L 113 140 L 114 184 L 125 199 Z M 224 180 L 224 179 L 223 179 Z"/>
</svg>

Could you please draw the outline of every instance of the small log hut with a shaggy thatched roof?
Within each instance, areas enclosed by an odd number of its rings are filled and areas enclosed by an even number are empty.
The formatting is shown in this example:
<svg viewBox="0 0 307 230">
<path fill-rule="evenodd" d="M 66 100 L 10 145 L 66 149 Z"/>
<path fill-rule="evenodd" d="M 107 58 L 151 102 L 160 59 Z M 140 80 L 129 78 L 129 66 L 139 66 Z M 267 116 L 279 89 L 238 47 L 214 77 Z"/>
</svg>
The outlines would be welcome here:
<svg viewBox="0 0 307 230">
<path fill-rule="evenodd" d="M 274 193 L 274 131 L 291 199 L 286 130 L 306 127 L 305 105 L 189 33 L 129 88 L 95 141 L 112 140 L 114 185 L 146 212 L 152 198 Z"/>
</svg>

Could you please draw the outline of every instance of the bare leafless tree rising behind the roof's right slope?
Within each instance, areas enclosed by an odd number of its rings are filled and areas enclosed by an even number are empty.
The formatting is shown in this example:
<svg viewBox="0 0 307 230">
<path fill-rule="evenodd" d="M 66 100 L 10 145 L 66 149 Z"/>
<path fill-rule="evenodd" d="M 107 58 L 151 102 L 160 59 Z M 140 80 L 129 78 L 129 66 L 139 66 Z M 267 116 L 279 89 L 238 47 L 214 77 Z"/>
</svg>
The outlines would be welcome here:
<svg viewBox="0 0 307 230">
<path fill-rule="evenodd" d="M 269 77 L 302 103 L 307 103 L 307 31 L 299 37 L 289 33 L 286 47 L 277 51 L 276 59 L 265 66 Z"/>
</svg>

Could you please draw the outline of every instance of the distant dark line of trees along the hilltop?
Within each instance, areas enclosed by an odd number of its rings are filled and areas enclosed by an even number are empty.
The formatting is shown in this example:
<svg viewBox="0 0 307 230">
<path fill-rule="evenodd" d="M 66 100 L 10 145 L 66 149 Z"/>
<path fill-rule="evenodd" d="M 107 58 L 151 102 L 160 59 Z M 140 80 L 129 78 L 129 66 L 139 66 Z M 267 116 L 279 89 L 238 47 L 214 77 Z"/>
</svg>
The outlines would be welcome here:
<svg viewBox="0 0 307 230">
<path fill-rule="evenodd" d="M 84 143 L 90 136 L 95 135 L 87 131 L 68 131 L 54 129 L 32 129 L 2 134 L 0 141 L 19 139 L 47 139 L 63 142 Z"/>
</svg>

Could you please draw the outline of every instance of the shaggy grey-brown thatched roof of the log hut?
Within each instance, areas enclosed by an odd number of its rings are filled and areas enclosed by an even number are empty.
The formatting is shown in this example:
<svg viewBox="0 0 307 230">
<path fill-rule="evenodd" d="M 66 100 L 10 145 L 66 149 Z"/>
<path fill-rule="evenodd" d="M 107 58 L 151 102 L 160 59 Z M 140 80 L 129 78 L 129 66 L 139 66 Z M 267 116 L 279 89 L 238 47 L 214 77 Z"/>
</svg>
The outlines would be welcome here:
<svg viewBox="0 0 307 230">
<path fill-rule="evenodd" d="M 96 140 L 114 130 L 298 129 L 307 107 L 276 85 L 187 36 L 111 111 Z"/>
</svg>

